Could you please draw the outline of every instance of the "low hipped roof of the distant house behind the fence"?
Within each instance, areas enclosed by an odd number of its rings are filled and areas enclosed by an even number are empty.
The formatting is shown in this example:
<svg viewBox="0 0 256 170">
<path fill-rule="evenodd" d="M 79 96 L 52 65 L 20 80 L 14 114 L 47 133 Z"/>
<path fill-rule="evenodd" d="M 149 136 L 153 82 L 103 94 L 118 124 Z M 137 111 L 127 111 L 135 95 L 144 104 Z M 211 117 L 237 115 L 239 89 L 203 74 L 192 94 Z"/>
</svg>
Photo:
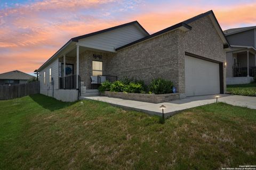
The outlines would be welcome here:
<svg viewBox="0 0 256 170">
<path fill-rule="evenodd" d="M 2 80 L 29 80 L 31 78 L 35 77 L 33 75 L 21 72 L 19 70 L 14 70 L 0 74 L 0 79 Z"/>
</svg>

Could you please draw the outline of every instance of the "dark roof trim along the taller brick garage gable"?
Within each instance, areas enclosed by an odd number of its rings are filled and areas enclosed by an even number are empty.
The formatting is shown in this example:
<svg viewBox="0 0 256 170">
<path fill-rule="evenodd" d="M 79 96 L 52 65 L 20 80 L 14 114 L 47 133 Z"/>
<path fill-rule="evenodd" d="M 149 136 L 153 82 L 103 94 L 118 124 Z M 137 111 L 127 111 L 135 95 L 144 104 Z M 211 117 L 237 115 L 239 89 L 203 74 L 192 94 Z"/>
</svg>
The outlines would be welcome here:
<svg viewBox="0 0 256 170">
<path fill-rule="evenodd" d="M 227 45 L 226 45 L 225 47 L 228 47 L 228 46 L 229 46 L 228 40 L 226 39 L 226 37 L 225 37 L 225 35 L 224 35 L 224 33 L 223 33 L 221 27 L 220 27 L 219 22 L 217 21 L 215 15 L 214 15 L 214 13 L 213 13 L 213 11 L 211 10 L 211 11 L 207 11 L 207 12 L 205 12 L 205 13 L 199 14 L 199 15 L 197 15 L 197 16 L 194 16 L 193 18 L 190 18 L 190 19 L 185 20 L 185 21 L 183 21 L 183 22 L 180 22 L 180 23 L 177 23 L 177 24 L 175 24 L 175 25 L 172 25 L 171 27 L 165 28 L 165 29 L 163 29 L 163 30 L 161 30 L 161 31 L 158 31 L 158 32 L 156 32 L 156 33 L 153 33 L 152 35 L 149 35 L 149 36 L 147 36 L 147 37 L 141 38 L 141 39 L 139 39 L 139 40 L 137 40 L 137 41 L 133 41 L 133 42 L 130 43 L 130 44 L 127 44 L 127 45 L 124 45 L 124 46 L 122 46 L 122 47 L 117 48 L 116 50 L 120 50 L 120 49 L 123 49 L 123 48 L 125 48 L 125 47 L 129 47 L 129 46 L 131 46 L 131 45 L 140 43 L 141 41 L 145 41 L 145 40 L 147 40 L 147 39 L 150 39 L 150 38 L 159 36 L 159 35 L 161 35 L 161 34 L 163 34 L 163 33 L 172 31 L 172 30 L 177 29 L 177 28 L 179 28 L 179 27 L 185 27 L 185 28 L 191 30 L 192 27 L 190 27 L 190 26 L 188 25 L 189 23 L 191 23 L 191 22 L 193 22 L 193 21 L 196 21 L 196 20 L 198 20 L 198 19 L 201 19 L 201 18 L 203 18 L 204 16 L 210 15 L 210 14 L 213 15 L 213 18 L 214 18 L 215 22 L 217 23 L 218 28 L 221 30 L 222 39 L 225 39 L 225 41 L 226 41 L 226 44 L 227 44 Z"/>
</svg>

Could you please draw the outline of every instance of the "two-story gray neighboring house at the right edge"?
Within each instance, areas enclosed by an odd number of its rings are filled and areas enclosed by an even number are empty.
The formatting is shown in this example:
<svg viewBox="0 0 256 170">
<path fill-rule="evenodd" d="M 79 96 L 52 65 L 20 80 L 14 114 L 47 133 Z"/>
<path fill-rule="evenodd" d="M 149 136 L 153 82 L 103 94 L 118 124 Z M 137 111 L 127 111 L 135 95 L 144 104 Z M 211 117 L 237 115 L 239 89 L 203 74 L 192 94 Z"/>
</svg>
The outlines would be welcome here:
<svg viewBox="0 0 256 170">
<path fill-rule="evenodd" d="M 256 76 L 256 26 L 223 31 L 230 44 L 227 52 L 227 84 L 243 84 Z"/>
</svg>

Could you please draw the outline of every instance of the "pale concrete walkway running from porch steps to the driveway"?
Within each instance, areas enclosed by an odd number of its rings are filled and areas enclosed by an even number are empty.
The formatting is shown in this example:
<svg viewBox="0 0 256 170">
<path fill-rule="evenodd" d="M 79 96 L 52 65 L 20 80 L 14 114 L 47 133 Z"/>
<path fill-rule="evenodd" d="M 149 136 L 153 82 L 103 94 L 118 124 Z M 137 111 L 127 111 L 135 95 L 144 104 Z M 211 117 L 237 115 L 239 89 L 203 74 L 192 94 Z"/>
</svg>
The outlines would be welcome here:
<svg viewBox="0 0 256 170">
<path fill-rule="evenodd" d="M 165 103 L 147 103 L 143 101 L 125 100 L 119 98 L 111 98 L 105 96 L 93 96 L 93 97 L 82 97 L 82 99 L 98 100 L 109 103 L 114 106 L 123 107 L 126 109 L 132 109 L 139 112 L 148 113 L 150 115 L 162 115 L 162 110 L 159 108 L 161 105 L 165 105 L 164 110 L 165 116 L 171 116 L 182 110 L 193 108 L 197 106 L 212 104 L 216 102 L 215 96 L 217 95 L 205 95 L 205 96 L 194 96 L 187 97 L 185 99 L 174 100 Z M 248 107 L 256 109 L 256 97 L 249 96 L 237 96 L 237 95 L 218 95 L 218 101 L 227 103 L 234 106 Z"/>
</svg>

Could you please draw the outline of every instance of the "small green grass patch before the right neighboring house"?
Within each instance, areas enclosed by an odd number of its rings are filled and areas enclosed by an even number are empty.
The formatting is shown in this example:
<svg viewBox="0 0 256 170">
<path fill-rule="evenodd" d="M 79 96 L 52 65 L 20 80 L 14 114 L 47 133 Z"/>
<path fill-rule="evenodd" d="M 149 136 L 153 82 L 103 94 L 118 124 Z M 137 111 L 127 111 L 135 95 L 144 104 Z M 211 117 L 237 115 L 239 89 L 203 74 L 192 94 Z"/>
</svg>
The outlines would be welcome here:
<svg viewBox="0 0 256 170">
<path fill-rule="evenodd" d="M 231 95 L 256 96 L 256 83 L 227 85 L 227 93 Z"/>
</svg>

